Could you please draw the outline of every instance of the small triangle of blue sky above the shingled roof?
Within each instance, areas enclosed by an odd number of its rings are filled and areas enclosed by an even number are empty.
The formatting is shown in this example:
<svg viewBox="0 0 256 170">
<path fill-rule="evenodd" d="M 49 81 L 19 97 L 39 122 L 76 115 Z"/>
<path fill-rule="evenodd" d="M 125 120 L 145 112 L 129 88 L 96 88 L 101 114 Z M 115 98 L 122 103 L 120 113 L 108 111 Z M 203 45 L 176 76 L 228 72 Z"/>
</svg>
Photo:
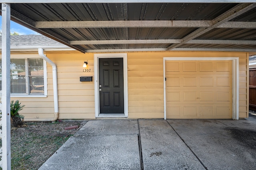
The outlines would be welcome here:
<svg viewBox="0 0 256 170">
<path fill-rule="evenodd" d="M 11 21 L 10 26 L 11 26 L 10 30 L 12 34 L 14 32 L 17 32 L 19 35 L 39 34 L 13 21 Z M 2 16 L 0 16 L 0 32 L 2 32 Z"/>
</svg>

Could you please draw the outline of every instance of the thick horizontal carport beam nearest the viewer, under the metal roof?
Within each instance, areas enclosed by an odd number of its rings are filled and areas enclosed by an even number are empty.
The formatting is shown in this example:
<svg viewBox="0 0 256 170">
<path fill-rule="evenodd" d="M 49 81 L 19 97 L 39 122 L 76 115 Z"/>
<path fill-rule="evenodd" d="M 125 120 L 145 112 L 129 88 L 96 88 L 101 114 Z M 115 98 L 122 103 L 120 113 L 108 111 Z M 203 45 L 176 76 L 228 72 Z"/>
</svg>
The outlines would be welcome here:
<svg viewBox="0 0 256 170">
<path fill-rule="evenodd" d="M 143 21 L 39 21 L 35 28 L 198 28 L 211 27 L 206 20 L 143 20 Z M 256 28 L 256 22 L 225 22 L 215 28 Z"/>
</svg>

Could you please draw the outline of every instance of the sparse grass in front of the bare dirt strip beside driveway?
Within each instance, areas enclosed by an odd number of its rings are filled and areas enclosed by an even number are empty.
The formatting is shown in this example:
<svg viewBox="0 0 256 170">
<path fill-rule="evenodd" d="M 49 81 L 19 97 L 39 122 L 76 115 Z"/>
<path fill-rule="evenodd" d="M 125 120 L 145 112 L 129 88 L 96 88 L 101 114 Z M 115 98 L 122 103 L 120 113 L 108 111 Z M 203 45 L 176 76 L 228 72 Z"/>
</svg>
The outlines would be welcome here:
<svg viewBox="0 0 256 170">
<path fill-rule="evenodd" d="M 16 136 L 17 135 L 17 136 Z M 11 137 L 11 168 L 12 170 L 32 170 L 40 166 L 54 153 L 68 137 L 46 136 L 32 132 L 23 134 L 17 140 L 18 134 Z"/>
</svg>

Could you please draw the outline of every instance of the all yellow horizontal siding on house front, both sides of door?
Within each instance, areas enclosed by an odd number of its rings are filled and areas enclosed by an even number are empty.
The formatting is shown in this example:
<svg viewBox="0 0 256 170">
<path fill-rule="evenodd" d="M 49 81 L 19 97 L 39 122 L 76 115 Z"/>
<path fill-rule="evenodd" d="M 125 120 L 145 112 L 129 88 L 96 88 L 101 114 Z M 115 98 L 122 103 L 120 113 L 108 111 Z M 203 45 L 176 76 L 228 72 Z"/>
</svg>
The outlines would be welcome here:
<svg viewBox="0 0 256 170">
<path fill-rule="evenodd" d="M 239 57 L 239 116 L 248 117 L 248 53 L 244 52 L 130 52 L 128 58 L 128 118 L 164 118 L 163 57 Z M 47 54 L 57 65 L 59 119 L 95 119 L 94 54 Z M 88 60 L 90 72 L 83 72 Z M 47 64 L 48 96 L 19 99 L 26 118 L 53 117 L 52 67 Z M 93 76 L 80 82 L 80 76 Z"/>
</svg>

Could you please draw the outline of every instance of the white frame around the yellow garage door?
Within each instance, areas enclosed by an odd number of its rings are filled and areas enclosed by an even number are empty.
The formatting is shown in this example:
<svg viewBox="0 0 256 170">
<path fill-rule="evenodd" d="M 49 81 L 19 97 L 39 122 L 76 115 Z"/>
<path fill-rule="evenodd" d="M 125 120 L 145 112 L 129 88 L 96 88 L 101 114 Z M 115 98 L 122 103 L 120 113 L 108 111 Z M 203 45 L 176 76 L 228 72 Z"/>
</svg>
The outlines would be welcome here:
<svg viewBox="0 0 256 170">
<path fill-rule="evenodd" d="M 165 61 L 168 60 L 231 60 L 232 61 L 232 119 L 239 119 L 239 57 L 164 57 L 164 119 L 166 120 Z"/>
</svg>

